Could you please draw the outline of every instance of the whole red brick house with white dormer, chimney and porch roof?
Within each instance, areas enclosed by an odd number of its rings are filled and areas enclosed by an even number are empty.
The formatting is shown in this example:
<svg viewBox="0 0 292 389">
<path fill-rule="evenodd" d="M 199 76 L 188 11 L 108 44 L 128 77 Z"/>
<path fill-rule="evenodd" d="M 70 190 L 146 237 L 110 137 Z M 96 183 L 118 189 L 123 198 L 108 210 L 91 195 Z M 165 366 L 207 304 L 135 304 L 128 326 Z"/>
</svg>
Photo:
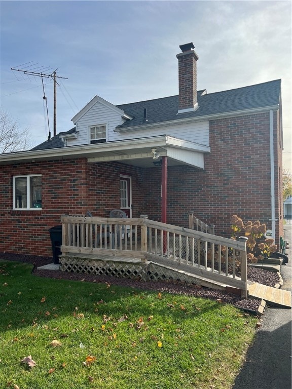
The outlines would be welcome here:
<svg viewBox="0 0 292 389">
<path fill-rule="evenodd" d="M 51 255 L 60 216 L 130 217 L 188 227 L 188 212 L 230 236 L 230 219 L 283 235 L 281 80 L 197 91 L 193 44 L 177 54 L 179 94 L 113 105 L 95 96 L 75 127 L 0 155 L 0 251 Z"/>
</svg>

